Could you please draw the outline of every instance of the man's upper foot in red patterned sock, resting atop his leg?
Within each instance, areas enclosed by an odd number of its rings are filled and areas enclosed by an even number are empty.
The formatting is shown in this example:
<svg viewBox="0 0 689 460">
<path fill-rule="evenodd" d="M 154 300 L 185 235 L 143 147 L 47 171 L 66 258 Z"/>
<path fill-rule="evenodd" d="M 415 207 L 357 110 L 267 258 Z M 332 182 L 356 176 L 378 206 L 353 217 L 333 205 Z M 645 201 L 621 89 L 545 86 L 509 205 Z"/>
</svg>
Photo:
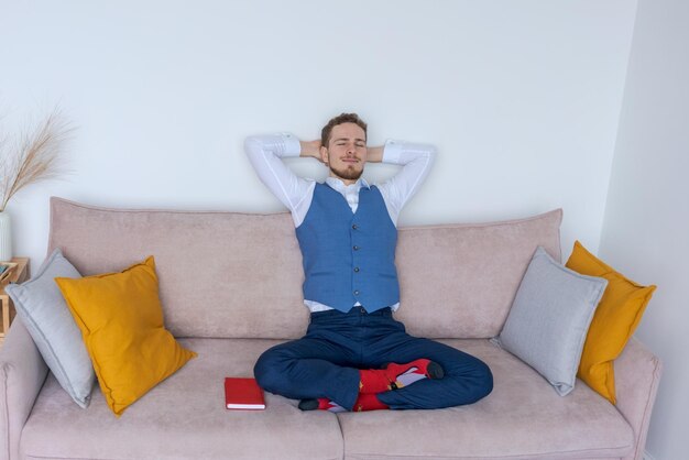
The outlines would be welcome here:
<svg viewBox="0 0 689 460">
<path fill-rule="evenodd" d="M 419 359 L 406 364 L 390 363 L 385 369 L 359 371 L 359 393 L 375 394 L 402 388 L 423 379 L 442 379 L 445 371 L 437 362 Z"/>
</svg>

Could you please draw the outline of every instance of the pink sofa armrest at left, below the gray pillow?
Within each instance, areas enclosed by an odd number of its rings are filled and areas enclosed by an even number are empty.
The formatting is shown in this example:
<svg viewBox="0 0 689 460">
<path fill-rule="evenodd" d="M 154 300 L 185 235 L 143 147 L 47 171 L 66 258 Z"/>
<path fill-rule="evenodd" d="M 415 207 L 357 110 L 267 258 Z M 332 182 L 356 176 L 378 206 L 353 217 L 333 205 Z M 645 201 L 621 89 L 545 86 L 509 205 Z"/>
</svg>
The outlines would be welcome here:
<svg viewBox="0 0 689 460">
<path fill-rule="evenodd" d="M 0 458 L 19 459 L 19 439 L 47 376 L 47 365 L 18 320 L 0 349 Z"/>
</svg>

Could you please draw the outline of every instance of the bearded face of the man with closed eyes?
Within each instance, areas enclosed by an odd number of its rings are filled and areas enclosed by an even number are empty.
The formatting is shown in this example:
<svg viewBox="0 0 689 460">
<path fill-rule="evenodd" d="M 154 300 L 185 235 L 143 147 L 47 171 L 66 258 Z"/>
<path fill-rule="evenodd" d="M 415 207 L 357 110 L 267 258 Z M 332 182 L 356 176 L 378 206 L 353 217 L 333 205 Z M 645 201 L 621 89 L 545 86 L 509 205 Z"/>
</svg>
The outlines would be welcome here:
<svg viewBox="0 0 689 460">
<path fill-rule="evenodd" d="M 320 147 L 320 156 L 330 168 L 330 176 L 342 179 L 346 185 L 357 182 L 367 163 L 367 135 L 356 123 L 342 123 L 332 128 L 327 146 Z"/>
</svg>

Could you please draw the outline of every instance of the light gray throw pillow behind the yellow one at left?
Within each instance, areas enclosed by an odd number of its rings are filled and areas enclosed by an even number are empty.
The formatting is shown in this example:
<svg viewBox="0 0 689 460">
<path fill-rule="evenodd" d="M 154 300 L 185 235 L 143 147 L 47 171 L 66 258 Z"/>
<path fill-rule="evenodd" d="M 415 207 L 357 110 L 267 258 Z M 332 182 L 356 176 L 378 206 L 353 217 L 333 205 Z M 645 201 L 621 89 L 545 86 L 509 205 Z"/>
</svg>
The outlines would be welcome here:
<svg viewBox="0 0 689 460">
<path fill-rule="evenodd" d="M 34 277 L 23 284 L 11 284 L 4 291 L 62 387 L 86 408 L 96 374 L 56 277 L 81 277 L 59 249 L 53 251 Z"/>
</svg>

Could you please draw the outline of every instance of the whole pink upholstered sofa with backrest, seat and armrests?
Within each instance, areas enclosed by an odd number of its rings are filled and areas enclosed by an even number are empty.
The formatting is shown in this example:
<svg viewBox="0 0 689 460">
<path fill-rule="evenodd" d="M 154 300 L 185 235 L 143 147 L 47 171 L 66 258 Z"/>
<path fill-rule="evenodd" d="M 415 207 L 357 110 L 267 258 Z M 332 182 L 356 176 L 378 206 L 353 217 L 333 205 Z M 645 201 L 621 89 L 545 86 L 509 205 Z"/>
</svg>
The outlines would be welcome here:
<svg viewBox="0 0 689 460">
<path fill-rule="evenodd" d="M 300 253 L 287 213 L 119 210 L 53 198 L 50 248 L 83 274 L 154 255 L 167 328 L 198 358 L 116 418 L 94 388 L 78 407 L 21 320 L 0 352 L 0 457 L 10 459 L 641 459 L 660 362 L 633 339 L 615 362 L 617 405 L 578 381 L 568 396 L 489 341 L 537 245 L 560 258 L 561 211 L 486 224 L 400 230 L 411 333 L 486 362 L 494 390 L 439 410 L 300 412 L 266 394 L 227 410 L 223 377 L 250 376 L 269 347 L 299 337 Z M 270 309 L 269 309 L 270 306 Z"/>
</svg>

